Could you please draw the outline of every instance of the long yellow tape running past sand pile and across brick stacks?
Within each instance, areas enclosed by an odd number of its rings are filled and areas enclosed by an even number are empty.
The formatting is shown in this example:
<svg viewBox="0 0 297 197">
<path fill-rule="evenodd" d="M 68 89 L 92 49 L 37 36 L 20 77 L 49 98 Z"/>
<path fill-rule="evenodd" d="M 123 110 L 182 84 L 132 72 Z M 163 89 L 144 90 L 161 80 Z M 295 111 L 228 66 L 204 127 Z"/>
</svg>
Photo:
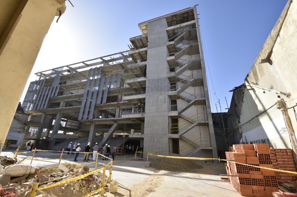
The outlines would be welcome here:
<svg viewBox="0 0 297 197">
<path fill-rule="evenodd" d="M 165 157 L 165 158 L 173 158 L 173 159 L 219 160 L 219 161 L 233 162 L 233 163 L 236 163 L 236 164 L 242 164 L 242 163 L 230 161 L 228 159 L 200 158 L 200 157 L 175 157 L 175 156 L 164 156 L 164 155 L 155 155 L 155 154 L 148 154 L 148 155 L 158 156 L 158 157 Z M 277 172 L 285 172 L 285 173 L 297 175 L 297 172 L 292 172 L 292 171 L 287 171 L 287 170 L 273 169 L 273 168 L 267 168 L 267 167 L 262 167 L 262 166 L 254 166 L 254 165 L 251 165 L 251 164 L 242 164 L 242 165 L 256 167 L 256 168 L 261 168 L 261 169 L 267 169 L 267 170 L 273 170 L 273 171 L 277 171 Z"/>
</svg>

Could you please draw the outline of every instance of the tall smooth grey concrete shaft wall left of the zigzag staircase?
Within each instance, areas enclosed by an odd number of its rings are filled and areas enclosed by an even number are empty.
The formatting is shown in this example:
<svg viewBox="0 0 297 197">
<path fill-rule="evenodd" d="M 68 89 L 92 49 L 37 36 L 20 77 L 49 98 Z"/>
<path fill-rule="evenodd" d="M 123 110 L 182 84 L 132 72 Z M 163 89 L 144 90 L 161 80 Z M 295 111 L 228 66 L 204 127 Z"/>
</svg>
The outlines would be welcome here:
<svg viewBox="0 0 297 197">
<path fill-rule="evenodd" d="M 168 150 L 167 22 L 148 23 L 146 113 L 143 152 Z M 163 84 L 163 85 L 160 85 Z M 160 154 L 167 155 L 168 152 Z"/>
</svg>

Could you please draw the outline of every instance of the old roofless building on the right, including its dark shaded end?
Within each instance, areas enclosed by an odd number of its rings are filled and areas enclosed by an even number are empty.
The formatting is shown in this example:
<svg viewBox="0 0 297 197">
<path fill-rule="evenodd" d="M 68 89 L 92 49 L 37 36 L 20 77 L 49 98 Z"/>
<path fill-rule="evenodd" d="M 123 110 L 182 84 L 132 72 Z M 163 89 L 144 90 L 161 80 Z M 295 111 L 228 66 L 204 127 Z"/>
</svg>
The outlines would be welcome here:
<svg viewBox="0 0 297 197">
<path fill-rule="evenodd" d="M 297 5 L 288 1 L 266 39 L 244 84 L 233 88 L 228 111 L 232 117 L 230 144 L 268 143 L 292 148 L 290 130 L 277 102 L 284 101 L 292 130 L 297 130 Z M 295 133 L 293 133 L 295 135 Z"/>
</svg>

